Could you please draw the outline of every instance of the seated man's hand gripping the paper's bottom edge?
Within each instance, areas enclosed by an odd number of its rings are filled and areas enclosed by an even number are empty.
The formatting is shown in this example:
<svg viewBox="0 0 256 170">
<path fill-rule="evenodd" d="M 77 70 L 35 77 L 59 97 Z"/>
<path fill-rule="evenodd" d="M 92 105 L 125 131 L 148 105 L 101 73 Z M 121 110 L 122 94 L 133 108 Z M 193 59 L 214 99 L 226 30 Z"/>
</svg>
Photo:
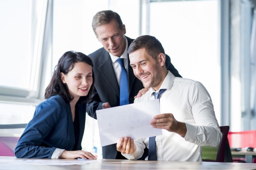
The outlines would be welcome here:
<svg viewBox="0 0 256 170">
<path fill-rule="evenodd" d="M 131 137 L 120 138 L 116 144 L 116 149 L 121 153 L 134 153 L 136 145 Z"/>
</svg>

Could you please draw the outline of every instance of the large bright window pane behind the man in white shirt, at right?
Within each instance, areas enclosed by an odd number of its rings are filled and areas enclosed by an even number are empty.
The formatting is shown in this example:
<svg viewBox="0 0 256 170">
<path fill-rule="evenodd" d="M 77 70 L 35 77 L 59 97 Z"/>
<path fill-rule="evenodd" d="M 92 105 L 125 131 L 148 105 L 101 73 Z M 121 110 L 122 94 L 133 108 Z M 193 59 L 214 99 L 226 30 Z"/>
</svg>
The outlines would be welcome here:
<svg viewBox="0 0 256 170">
<path fill-rule="evenodd" d="M 220 123 L 218 0 L 150 3 L 150 35 L 160 40 L 183 78 L 207 88 Z"/>
</svg>

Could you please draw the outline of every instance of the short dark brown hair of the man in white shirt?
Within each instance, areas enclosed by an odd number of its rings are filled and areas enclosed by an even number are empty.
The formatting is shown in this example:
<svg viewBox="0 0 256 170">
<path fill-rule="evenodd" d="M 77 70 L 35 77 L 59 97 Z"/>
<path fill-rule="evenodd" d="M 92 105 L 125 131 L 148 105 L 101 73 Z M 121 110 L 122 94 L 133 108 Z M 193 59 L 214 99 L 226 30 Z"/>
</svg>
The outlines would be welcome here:
<svg viewBox="0 0 256 170">
<path fill-rule="evenodd" d="M 156 37 L 150 35 L 143 35 L 136 38 L 129 46 L 128 54 L 131 54 L 140 48 L 145 48 L 145 51 L 148 53 L 148 55 L 154 59 L 157 59 L 157 56 L 160 53 L 165 54 L 161 42 L 157 40 Z"/>
</svg>

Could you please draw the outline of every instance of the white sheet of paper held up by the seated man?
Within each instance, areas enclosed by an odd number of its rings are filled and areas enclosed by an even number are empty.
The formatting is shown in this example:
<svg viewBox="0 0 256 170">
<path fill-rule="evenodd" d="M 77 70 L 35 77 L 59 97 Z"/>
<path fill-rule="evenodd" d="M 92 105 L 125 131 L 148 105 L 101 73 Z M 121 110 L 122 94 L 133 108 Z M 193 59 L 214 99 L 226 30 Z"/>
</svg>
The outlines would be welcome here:
<svg viewBox="0 0 256 170">
<path fill-rule="evenodd" d="M 142 139 L 162 135 L 150 121 L 160 114 L 159 99 L 96 111 L 102 146 L 117 143 L 121 137 Z"/>
</svg>

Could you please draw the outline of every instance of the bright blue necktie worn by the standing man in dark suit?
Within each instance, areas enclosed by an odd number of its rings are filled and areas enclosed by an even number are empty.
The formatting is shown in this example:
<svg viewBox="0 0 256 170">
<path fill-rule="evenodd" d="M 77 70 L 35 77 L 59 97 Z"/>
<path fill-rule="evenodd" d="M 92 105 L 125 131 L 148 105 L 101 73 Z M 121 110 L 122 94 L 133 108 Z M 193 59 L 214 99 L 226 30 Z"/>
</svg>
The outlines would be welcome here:
<svg viewBox="0 0 256 170">
<path fill-rule="evenodd" d="M 127 72 L 124 65 L 124 59 L 119 58 L 117 62 L 121 66 L 121 79 L 120 79 L 120 106 L 129 104 L 128 80 Z"/>
</svg>

